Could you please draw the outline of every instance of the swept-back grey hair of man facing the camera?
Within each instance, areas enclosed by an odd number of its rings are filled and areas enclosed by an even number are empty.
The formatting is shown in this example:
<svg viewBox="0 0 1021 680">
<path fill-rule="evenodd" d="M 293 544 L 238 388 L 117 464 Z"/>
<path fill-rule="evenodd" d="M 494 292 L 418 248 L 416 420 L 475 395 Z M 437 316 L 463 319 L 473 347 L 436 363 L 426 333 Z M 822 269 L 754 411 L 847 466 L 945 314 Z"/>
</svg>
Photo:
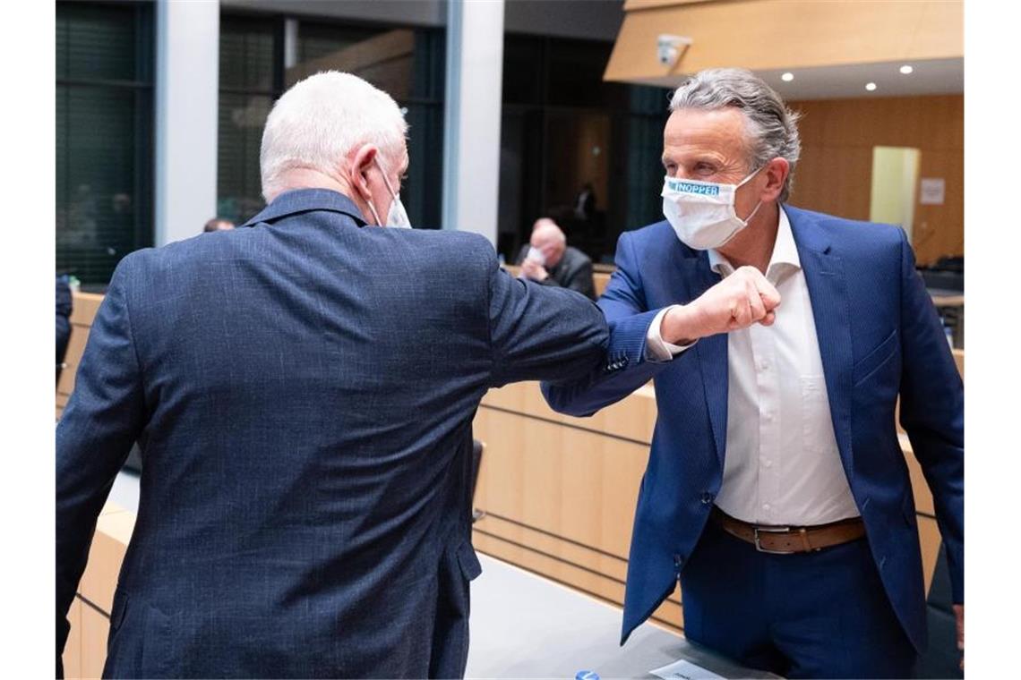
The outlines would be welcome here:
<svg viewBox="0 0 1021 680">
<path fill-rule="evenodd" d="M 790 172 L 780 192 L 780 201 L 790 196 L 794 166 L 801 155 L 797 135 L 800 114 L 791 111 L 773 88 L 744 68 L 710 68 L 699 71 L 674 91 L 670 110 L 719 110 L 728 106 L 744 114 L 749 151 L 749 170 L 774 158 L 785 158 Z"/>
</svg>

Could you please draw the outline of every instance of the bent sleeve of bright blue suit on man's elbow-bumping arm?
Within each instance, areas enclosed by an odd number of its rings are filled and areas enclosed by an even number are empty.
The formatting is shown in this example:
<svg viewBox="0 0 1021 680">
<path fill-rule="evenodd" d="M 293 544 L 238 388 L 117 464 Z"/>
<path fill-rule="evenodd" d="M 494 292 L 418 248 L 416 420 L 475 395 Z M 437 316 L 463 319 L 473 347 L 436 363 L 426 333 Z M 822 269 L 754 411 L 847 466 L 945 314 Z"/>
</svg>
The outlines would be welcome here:
<svg viewBox="0 0 1021 680">
<path fill-rule="evenodd" d="M 544 382 L 542 394 L 554 411 L 590 416 L 624 399 L 671 365 L 670 362 L 650 362 L 645 357 L 648 328 L 661 309 L 650 310 L 645 303 L 632 239 L 627 232 L 621 234 L 617 244 L 617 270 L 599 298 L 599 308 L 610 324 L 606 362 L 574 380 Z M 686 354 L 676 361 L 685 361 Z"/>
</svg>

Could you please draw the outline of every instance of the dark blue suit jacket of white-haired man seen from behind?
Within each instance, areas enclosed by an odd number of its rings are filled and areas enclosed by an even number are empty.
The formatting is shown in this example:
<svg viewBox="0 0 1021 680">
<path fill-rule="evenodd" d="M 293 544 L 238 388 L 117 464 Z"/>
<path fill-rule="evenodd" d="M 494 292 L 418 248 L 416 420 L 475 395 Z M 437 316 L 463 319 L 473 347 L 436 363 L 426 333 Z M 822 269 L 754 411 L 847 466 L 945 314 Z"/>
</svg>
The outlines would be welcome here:
<svg viewBox="0 0 1021 680">
<path fill-rule="evenodd" d="M 595 304 L 478 234 L 285 194 L 116 269 L 57 428 L 57 653 L 97 515 L 144 467 L 104 677 L 457 677 L 472 420 L 602 364 Z"/>
</svg>

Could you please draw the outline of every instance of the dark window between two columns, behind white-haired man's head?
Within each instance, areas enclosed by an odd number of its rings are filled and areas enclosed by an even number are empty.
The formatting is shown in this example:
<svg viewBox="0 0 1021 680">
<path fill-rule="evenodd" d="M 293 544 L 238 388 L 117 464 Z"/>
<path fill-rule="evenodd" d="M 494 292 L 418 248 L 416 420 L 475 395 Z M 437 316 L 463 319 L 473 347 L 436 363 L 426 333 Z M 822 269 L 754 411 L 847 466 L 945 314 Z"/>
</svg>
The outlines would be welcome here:
<svg viewBox="0 0 1021 680">
<path fill-rule="evenodd" d="M 243 222 L 263 206 L 258 157 L 265 117 L 283 92 L 323 70 L 350 72 L 389 93 L 409 124 L 401 201 L 416 226 L 439 226 L 442 203 L 444 32 L 298 19 L 285 65 L 279 16 L 221 17 L 218 204 Z"/>
</svg>

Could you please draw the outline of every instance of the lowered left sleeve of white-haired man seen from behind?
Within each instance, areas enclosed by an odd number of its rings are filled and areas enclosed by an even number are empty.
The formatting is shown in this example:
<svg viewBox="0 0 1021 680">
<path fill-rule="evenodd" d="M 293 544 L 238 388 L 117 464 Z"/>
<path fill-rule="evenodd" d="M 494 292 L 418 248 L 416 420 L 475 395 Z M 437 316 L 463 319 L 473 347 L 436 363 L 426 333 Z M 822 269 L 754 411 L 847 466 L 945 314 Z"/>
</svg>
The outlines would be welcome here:
<svg viewBox="0 0 1021 680">
<path fill-rule="evenodd" d="M 143 424 L 143 390 L 126 297 L 130 256 L 96 313 L 56 432 L 56 663 L 96 520 Z"/>
</svg>

